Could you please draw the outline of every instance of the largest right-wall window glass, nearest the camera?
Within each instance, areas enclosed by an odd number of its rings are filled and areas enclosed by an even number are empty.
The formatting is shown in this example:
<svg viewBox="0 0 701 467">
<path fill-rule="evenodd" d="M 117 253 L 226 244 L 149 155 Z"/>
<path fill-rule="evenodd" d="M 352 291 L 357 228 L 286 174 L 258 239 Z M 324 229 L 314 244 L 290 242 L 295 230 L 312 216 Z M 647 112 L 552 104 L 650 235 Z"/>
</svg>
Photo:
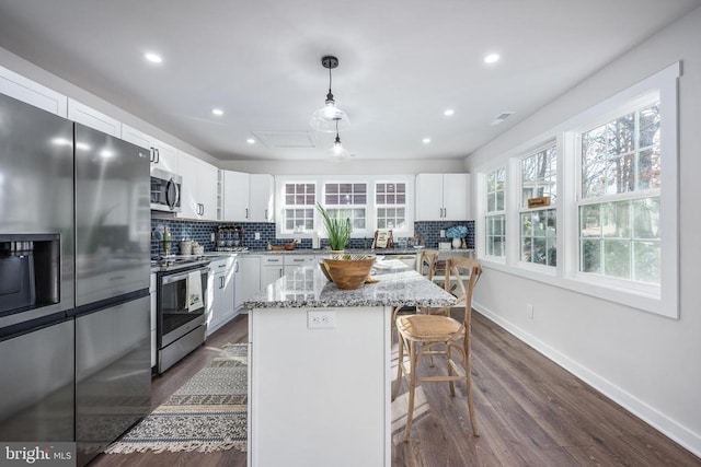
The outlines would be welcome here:
<svg viewBox="0 0 701 467">
<path fill-rule="evenodd" d="M 658 97 L 581 135 L 579 271 L 660 283 Z"/>
</svg>

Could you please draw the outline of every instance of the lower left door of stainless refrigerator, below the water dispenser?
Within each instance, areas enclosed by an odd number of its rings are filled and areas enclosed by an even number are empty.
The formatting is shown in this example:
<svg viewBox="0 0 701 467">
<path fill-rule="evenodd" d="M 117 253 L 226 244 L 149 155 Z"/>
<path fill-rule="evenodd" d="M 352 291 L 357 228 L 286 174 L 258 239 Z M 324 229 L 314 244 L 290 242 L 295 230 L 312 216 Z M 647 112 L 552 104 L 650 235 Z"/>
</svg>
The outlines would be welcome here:
<svg viewBox="0 0 701 467">
<path fill-rule="evenodd" d="M 0 440 L 73 441 L 73 322 L 0 342 Z"/>
</svg>

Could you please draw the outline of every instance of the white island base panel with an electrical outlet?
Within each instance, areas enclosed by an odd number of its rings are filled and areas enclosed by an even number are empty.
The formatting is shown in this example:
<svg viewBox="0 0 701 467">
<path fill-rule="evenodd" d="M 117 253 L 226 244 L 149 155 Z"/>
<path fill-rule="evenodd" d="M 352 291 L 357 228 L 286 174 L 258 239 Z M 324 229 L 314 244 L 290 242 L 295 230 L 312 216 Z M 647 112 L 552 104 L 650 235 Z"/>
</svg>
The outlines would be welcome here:
<svg viewBox="0 0 701 467">
<path fill-rule="evenodd" d="M 249 466 L 390 466 L 391 310 L 252 310 Z"/>
</svg>

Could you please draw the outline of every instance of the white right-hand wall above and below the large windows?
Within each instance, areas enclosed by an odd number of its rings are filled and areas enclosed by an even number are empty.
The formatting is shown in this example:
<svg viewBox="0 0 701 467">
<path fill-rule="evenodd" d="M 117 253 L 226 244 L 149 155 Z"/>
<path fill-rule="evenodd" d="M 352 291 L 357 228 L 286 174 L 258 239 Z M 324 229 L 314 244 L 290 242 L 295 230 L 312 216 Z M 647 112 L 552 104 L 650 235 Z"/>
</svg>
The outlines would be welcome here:
<svg viewBox="0 0 701 467">
<path fill-rule="evenodd" d="M 701 9 L 663 30 L 466 161 L 468 172 L 682 61 L 679 79 L 680 318 L 490 269 L 475 308 L 701 456 Z M 665 188 L 663 188 L 665 189 Z M 473 197 L 473 199 L 475 199 Z M 473 207 L 473 212 L 478 212 Z M 509 293 L 503 293 L 508 290 Z M 535 305 L 529 319 L 526 304 Z"/>
</svg>

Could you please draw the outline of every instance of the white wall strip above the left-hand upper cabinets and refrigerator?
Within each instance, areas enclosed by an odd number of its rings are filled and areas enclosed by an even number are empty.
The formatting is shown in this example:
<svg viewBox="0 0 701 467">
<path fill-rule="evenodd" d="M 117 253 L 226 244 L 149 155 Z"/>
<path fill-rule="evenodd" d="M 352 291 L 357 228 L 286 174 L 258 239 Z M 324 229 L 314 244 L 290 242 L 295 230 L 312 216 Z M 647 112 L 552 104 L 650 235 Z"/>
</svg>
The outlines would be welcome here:
<svg viewBox="0 0 701 467">
<path fill-rule="evenodd" d="M 102 112 L 123 124 L 127 124 L 128 126 L 136 128 L 138 130 L 143 131 L 145 133 L 157 138 L 164 143 L 171 144 L 188 154 L 192 154 L 196 157 L 202 159 L 210 164 L 218 165 L 219 161 L 207 154 L 206 152 L 188 144 L 172 135 L 161 130 L 158 127 L 145 121 L 128 112 L 123 110 L 120 107 L 117 107 L 114 104 L 108 103 L 107 101 L 89 93 L 81 87 L 53 74 L 43 68 L 35 66 L 34 63 L 23 59 L 20 56 L 12 54 L 11 51 L 0 47 L 0 65 L 9 70 L 14 71 L 18 74 L 23 75 L 24 78 L 28 78 L 32 81 L 35 81 L 39 84 L 45 85 L 46 87 L 54 90 L 60 94 L 64 94 L 68 97 L 71 97 L 81 104 L 84 104 L 89 107 L 94 108 L 95 110 Z"/>
</svg>

